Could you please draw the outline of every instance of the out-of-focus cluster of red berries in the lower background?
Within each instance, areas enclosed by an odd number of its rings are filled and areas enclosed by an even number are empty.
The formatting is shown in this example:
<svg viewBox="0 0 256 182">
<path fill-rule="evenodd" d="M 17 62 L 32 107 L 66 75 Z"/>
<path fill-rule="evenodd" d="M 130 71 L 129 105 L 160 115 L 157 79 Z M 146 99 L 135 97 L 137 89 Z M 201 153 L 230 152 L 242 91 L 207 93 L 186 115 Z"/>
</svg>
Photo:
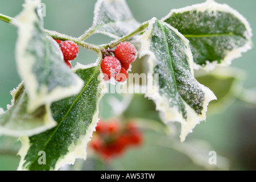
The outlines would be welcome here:
<svg viewBox="0 0 256 182">
<path fill-rule="evenodd" d="M 127 148 L 139 146 L 142 143 L 142 133 L 134 122 L 121 125 L 117 119 L 100 121 L 93 134 L 89 146 L 106 162 L 115 156 L 122 155 Z"/>
</svg>

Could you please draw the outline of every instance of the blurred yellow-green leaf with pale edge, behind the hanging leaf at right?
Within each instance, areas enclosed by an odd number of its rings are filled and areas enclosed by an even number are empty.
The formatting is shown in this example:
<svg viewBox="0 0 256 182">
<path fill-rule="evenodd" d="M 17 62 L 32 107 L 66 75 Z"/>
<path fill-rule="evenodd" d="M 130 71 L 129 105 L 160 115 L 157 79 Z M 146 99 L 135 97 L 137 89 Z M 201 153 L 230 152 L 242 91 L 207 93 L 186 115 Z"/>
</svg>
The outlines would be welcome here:
<svg viewBox="0 0 256 182">
<path fill-rule="evenodd" d="M 240 95 L 245 75 L 241 69 L 231 67 L 216 67 L 211 72 L 195 71 L 196 80 L 210 88 L 217 97 L 210 102 L 208 113 L 222 111 Z"/>
</svg>

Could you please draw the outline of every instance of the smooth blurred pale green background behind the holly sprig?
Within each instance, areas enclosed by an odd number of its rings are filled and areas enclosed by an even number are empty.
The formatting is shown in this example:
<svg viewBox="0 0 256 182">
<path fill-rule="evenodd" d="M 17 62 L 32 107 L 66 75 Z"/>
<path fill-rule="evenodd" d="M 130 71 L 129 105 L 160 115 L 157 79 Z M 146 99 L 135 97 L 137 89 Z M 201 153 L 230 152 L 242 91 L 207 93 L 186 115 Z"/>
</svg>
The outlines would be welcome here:
<svg viewBox="0 0 256 182">
<path fill-rule="evenodd" d="M 80 36 L 92 25 L 94 3 L 93 0 L 43 0 L 46 4 L 46 17 L 44 27 L 71 36 Z M 135 19 L 139 22 L 156 17 L 158 19 L 166 16 L 171 9 L 176 9 L 204 1 L 196 0 L 127 0 Z M 256 31 L 256 1 L 254 0 L 225 0 L 217 1 L 227 3 L 238 10 L 249 21 L 253 34 Z M 22 10 L 23 1 L 1 0 L 0 13 L 14 17 Z M 6 105 L 10 104 L 10 90 L 15 88 L 20 78 L 15 66 L 15 41 L 16 27 L 0 22 L 0 107 L 6 110 Z M 253 42 L 255 43 L 255 37 Z M 88 42 L 94 44 L 108 43 L 110 38 L 104 35 L 94 35 Z M 255 67 L 256 67 L 255 47 L 243 53 L 242 57 L 233 60 L 232 67 L 240 68 L 247 73 L 247 78 L 243 84 L 245 88 L 255 88 Z M 96 55 L 93 52 L 80 49 L 79 56 L 72 62 L 82 64 L 93 63 Z M 147 102 L 146 100 L 142 100 Z M 240 100 L 234 100 L 232 104 L 219 113 L 210 114 L 207 122 L 201 122 L 187 137 L 186 143 L 193 140 L 204 140 L 210 144 L 209 150 L 214 150 L 217 155 L 224 156 L 229 160 L 229 169 L 246 170 L 256 169 L 256 107 L 246 104 Z M 113 161 L 110 169 L 124 170 L 205 170 L 200 164 L 194 163 L 187 155 L 178 152 L 172 140 L 162 140 L 166 135 L 155 131 L 144 131 L 144 144 L 141 148 L 134 148 L 127 152 L 122 158 Z M 0 170 L 16 170 L 19 163 L 19 156 L 15 155 L 20 143 L 13 146 L 11 138 L 1 138 L 5 146 L 14 148 L 10 153 L 3 150 L 0 144 Z M 162 142 L 159 144 L 158 141 Z M 165 143 L 165 144 L 163 144 Z M 1 148 L 2 147 L 2 148 Z M 192 147 L 193 148 L 193 147 Z M 218 162 L 218 161 L 217 161 Z M 88 164 L 90 160 L 88 160 Z M 87 165 L 86 162 L 85 164 Z M 88 169 L 88 168 L 84 168 Z M 215 169 L 215 168 L 210 168 Z M 218 169 L 218 168 L 216 168 Z"/>
</svg>

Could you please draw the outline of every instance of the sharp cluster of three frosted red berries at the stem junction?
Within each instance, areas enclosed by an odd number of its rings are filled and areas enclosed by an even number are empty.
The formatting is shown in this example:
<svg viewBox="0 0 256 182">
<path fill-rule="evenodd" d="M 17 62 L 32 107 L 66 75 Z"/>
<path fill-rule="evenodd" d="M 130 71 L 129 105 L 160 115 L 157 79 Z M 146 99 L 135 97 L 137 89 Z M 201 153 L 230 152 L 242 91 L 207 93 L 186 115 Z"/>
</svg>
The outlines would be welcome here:
<svg viewBox="0 0 256 182">
<path fill-rule="evenodd" d="M 128 78 L 127 70 L 136 58 L 137 49 L 133 44 L 123 42 L 115 48 L 114 56 L 106 56 L 101 62 L 101 70 L 104 80 L 114 77 L 118 82 Z"/>
</svg>

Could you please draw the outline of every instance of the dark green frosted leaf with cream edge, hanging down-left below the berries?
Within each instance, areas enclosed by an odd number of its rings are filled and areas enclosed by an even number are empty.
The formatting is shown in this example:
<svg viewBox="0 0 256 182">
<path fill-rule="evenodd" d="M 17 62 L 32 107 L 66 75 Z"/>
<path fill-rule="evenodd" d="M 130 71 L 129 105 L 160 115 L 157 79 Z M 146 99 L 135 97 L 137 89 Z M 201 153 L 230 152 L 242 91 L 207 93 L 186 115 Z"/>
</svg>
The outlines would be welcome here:
<svg viewBox="0 0 256 182">
<path fill-rule="evenodd" d="M 78 64 L 74 71 L 85 82 L 79 94 L 53 102 L 52 115 L 58 123 L 50 130 L 32 137 L 21 137 L 19 170 L 57 170 L 86 158 L 86 145 L 98 121 L 98 104 L 105 93 L 100 67 Z M 38 163 L 44 151 L 46 164 Z"/>
</svg>

